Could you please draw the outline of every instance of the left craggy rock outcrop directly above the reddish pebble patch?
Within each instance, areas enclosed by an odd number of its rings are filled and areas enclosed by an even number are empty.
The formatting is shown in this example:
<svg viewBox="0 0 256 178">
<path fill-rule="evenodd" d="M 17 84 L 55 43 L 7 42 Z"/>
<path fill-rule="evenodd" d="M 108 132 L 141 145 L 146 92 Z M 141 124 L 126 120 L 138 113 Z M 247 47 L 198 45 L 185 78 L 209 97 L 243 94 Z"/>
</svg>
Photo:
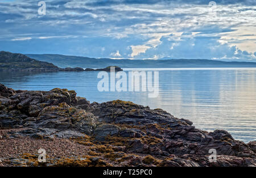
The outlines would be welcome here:
<svg viewBox="0 0 256 178">
<path fill-rule="evenodd" d="M 71 107 L 71 105 L 77 105 L 78 102 L 75 91 L 60 88 L 48 92 L 24 91 L 13 93 L 10 98 L 0 98 L 0 100 L 0 107 L 3 108 L 0 112 L 2 127 L 33 128 L 34 132 L 31 132 L 33 137 L 36 133 L 42 133 L 39 128 L 57 129 L 56 132 L 80 130 L 83 133 L 80 135 L 90 134 L 96 122 L 92 113 Z M 44 136 L 51 135 L 47 132 L 43 134 Z"/>
</svg>

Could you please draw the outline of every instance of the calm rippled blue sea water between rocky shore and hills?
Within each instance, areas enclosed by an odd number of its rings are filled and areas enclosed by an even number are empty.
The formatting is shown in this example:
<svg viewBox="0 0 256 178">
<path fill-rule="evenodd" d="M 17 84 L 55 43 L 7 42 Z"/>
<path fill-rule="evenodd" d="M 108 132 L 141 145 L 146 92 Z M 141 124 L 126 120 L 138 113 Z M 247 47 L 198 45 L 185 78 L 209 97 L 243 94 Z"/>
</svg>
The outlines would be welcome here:
<svg viewBox="0 0 256 178">
<path fill-rule="evenodd" d="M 199 129 L 228 130 L 244 142 L 256 139 L 256 69 L 155 70 L 159 71 L 157 98 L 148 98 L 147 92 L 99 92 L 100 79 L 95 71 L 0 72 L 0 83 L 15 90 L 68 88 L 75 90 L 77 96 L 98 103 L 116 99 L 133 101 L 187 118 Z"/>
</svg>

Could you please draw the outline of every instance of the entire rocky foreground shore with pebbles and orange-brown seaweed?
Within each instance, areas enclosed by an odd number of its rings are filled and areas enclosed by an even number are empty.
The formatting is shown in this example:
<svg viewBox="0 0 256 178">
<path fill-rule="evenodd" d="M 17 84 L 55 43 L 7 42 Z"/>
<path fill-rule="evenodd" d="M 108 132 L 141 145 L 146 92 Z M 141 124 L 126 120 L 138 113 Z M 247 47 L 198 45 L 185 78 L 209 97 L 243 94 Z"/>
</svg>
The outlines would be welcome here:
<svg viewBox="0 0 256 178">
<path fill-rule="evenodd" d="M 0 84 L 0 166 L 256 166 L 256 141 L 192 124 L 130 101 L 90 103 L 66 89 Z"/>
</svg>

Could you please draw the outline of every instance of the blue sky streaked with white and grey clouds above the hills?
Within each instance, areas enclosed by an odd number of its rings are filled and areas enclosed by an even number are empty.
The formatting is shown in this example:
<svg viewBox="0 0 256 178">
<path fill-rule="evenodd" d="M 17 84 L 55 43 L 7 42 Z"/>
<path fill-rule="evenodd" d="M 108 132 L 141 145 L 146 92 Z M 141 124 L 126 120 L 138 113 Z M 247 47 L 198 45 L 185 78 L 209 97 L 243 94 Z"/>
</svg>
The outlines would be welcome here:
<svg viewBox="0 0 256 178">
<path fill-rule="evenodd" d="M 0 50 L 256 62 L 255 0 L 0 0 Z"/>
</svg>

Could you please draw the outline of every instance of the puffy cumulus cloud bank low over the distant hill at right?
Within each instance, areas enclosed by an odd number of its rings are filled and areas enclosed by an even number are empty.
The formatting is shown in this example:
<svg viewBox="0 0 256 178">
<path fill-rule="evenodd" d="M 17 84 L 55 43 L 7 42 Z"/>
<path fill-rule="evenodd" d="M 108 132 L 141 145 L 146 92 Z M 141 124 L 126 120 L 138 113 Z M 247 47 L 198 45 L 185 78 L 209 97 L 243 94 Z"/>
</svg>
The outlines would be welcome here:
<svg viewBox="0 0 256 178">
<path fill-rule="evenodd" d="M 212 59 L 212 60 L 256 60 L 253 53 L 242 51 L 237 46 L 221 44 L 220 37 L 191 36 L 192 33 L 183 33 L 179 40 L 173 34 L 163 36 L 160 45 L 149 48 L 135 58 L 152 58 L 155 54 L 161 54 L 158 58 L 170 59 Z"/>
</svg>

